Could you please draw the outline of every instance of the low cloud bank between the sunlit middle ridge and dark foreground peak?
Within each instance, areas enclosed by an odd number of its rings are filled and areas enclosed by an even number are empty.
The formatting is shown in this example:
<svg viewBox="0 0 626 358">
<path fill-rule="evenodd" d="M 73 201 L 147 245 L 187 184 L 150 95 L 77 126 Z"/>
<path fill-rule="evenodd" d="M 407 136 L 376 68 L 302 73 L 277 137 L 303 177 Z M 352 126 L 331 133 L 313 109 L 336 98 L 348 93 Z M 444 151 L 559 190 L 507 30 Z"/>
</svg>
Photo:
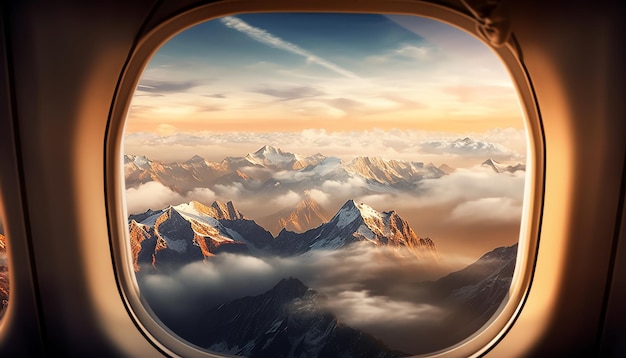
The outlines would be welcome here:
<svg viewBox="0 0 626 358">
<path fill-rule="evenodd" d="M 445 268 L 397 255 L 371 245 L 293 258 L 220 254 L 172 272 L 140 273 L 138 282 L 142 296 L 170 327 L 224 302 L 266 292 L 286 277 L 316 290 L 322 308 L 340 322 L 377 336 L 438 324 L 446 308 L 430 302 L 419 283 L 440 277 Z M 395 343 L 406 338 L 396 337 Z"/>
</svg>

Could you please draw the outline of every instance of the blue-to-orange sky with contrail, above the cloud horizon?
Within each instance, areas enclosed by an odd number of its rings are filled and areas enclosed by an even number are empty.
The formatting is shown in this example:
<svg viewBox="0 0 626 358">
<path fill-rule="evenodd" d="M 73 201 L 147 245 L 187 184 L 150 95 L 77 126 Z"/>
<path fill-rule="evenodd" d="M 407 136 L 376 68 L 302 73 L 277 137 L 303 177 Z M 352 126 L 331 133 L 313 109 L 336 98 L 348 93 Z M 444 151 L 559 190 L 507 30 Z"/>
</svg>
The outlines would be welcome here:
<svg viewBox="0 0 626 358">
<path fill-rule="evenodd" d="M 513 85 L 472 36 L 415 16 L 285 13 L 214 19 L 169 40 L 126 129 L 509 127 L 523 128 Z"/>
</svg>

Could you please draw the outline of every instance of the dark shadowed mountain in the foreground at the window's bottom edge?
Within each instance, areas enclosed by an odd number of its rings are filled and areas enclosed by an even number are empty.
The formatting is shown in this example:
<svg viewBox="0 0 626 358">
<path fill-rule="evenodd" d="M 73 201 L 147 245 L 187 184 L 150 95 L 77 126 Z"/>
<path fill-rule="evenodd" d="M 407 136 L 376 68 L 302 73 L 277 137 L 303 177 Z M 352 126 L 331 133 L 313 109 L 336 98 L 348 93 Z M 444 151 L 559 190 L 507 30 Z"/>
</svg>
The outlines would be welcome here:
<svg viewBox="0 0 626 358">
<path fill-rule="evenodd" d="M 188 339 L 211 351 L 246 357 L 397 357 L 380 341 L 343 325 L 324 298 L 295 278 L 269 291 L 212 308 Z"/>
</svg>

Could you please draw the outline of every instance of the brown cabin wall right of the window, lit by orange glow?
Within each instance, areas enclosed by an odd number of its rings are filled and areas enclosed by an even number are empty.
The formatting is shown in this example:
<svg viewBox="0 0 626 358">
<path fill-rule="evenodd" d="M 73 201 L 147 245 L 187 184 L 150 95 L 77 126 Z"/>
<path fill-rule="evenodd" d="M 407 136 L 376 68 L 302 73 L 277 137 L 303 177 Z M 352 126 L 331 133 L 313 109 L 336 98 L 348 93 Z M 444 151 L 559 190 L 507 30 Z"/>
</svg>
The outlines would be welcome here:
<svg viewBox="0 0 626 358">
<path fill-rule="evenodd" d="M 624 14 L 617 2 L 511 4 L 545 129 L 545 206 L 528 300 L 492 354 L 593 356 L 624 200 Z"/>
</svg>

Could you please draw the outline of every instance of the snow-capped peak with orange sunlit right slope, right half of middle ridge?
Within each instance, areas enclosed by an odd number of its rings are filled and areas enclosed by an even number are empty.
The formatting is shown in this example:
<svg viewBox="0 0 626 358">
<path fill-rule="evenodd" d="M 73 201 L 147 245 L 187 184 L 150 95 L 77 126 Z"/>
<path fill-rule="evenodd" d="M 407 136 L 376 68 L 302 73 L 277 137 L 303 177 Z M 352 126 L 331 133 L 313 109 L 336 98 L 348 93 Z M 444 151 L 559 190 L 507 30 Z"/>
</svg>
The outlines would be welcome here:
<svg viewBox="0 0 626 358">
<path fill-rule="evenodd" d="M 379 213 L 353 200 L 348 200 L 329 222 L 315 229 L 302 234 L 282 230 L 272 246 L 280 255 L 294 255 L 311 250 L 337 250 L 357 242 L 398 251 L 406 249 L 418 258 L 438 259 L 434 242 L 420 238 L 395 211 Z"/>
</svg>

